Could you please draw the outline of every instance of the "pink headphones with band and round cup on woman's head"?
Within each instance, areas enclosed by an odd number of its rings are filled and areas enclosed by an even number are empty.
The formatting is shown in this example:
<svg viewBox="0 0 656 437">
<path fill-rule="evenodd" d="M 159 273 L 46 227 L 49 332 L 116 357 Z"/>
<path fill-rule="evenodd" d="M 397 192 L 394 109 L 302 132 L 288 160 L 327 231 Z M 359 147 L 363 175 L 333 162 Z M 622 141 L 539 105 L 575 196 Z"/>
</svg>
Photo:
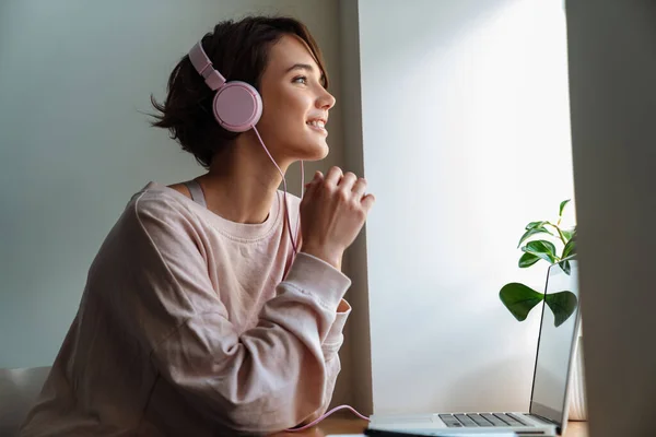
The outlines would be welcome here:
<svg viewBox="0 0 656 437">
<path fill-rule="evenodd" d="M 255 127 L 262 116 L 262 98 L 257 90 L 246 82 L 226 82 L 200 42 L 189 51 L 189 59 L 208 86 L 216 92 L 212 107 L 219 125 L 231 132 L 245 132 Z"/>
</svg>

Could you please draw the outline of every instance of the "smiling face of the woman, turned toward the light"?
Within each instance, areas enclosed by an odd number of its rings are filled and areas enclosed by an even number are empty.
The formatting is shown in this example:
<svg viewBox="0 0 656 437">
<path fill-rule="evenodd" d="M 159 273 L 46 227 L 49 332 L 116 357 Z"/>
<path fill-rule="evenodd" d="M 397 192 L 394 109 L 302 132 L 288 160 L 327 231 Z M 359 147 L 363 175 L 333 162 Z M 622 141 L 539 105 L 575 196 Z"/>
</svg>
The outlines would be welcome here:
<svg viewBox="0 0 656 437">
<path fill-rule="evenodd" d="M 325 125 L 335 97 L 321 85 L 321 76 L 301 38 L 285 35 L 270 48 L 260 82 L 263 109 L 257 129 L 279 164 L 317 161 L 328 154 Z"/>
</svg>

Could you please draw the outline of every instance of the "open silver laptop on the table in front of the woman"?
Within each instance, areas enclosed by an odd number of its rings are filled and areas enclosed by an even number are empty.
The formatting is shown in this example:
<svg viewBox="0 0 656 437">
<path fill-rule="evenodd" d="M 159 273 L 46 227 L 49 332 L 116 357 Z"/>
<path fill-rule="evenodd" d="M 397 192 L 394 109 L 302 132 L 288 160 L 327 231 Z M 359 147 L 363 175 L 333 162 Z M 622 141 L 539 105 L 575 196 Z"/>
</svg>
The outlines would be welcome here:
<svg viewBox="0 0 656 437">
<path fill-rule="evenodd" d="M 536 354 L 529 411 L 432 413 L 371 416 L 370 429 L 426 436 L 496 434 L 557 436 L 567 423 L 567 387 L 578 342 L 578 267 L 575 259 L 553 264 L 547 274 L 546 295 Z M 554 309 L 552 309 L 554 308 Z M 557 317 L 558 316 L 558 317 Z M 558 324 L 558 327 L 557 327 Z"/>
</svg>

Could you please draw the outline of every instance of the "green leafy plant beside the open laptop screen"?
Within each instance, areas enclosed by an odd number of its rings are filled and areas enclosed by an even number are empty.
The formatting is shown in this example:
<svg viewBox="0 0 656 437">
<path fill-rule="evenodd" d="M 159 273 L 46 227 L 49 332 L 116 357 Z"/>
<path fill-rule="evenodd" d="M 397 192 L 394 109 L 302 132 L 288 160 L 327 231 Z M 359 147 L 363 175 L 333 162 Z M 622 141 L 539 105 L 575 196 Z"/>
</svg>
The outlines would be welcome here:
<svg viewBox="0 0 656 437">
<path fill-rule="evenodd" d="M 561 227 L 563 211 L 567 203 L 570 203 L 570 199 L 561 202 L 555 224 L 549 221 L 540 221 L 530 222 L 526 225 L 524 235 L 522 235 L 517 245 L 523 251 L 519 258 L 519 268 L 527 269 L 538 261 L 544 260 L 552 265 L 559 264 L 565 273 L 570 274 L 570 261 L 576 256 L 576 227 L 574 226 L 571 229 Z M 543 238 L 553 239 L 555 244 Z M 560 255 L 557 245 L 562 245 Z M 518 321 L 526 320 L 530 310 L 544 299 L 544 303 L 553 311 L 557 327 L 570 318 L 578 304 L 576 295 L 570 291 L 550 294 L 538 293 L 518 282 L 504 285 L 499 292 L 499 297 Z"/>
</svg>

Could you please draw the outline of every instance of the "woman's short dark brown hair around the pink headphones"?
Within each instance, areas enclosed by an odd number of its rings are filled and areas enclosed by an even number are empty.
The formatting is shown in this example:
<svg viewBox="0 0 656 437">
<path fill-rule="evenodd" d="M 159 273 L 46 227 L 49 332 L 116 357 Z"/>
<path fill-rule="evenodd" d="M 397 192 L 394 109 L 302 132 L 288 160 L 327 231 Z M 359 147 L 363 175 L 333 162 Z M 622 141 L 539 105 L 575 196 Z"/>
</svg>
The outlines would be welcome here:
<svg viewBox="0 0 656 437">
<path fill-rule="evenodd" d="M 244 81 L 260 91 L 260 80 L 267 67 L 269 48 L 284 35 L 296 35 L 309 47 L 328 88 L 328 76 L 317 43 L 300 21 L 284 16 L 247 16 L 227 20 L 202 37 L 202 47 L 214 68 L 227 80 Z M 160 114 L 152 126 L 168 129 L 171 138 L 194 154 L 208 168 L 212 157 L 226 149 L 238 133 L 223 129 L 214 119 L 214 92 L 194 69 L 185 55 L 168 78 L 167 96 L 163 104 L 151 95 Z"/>
</svg>

